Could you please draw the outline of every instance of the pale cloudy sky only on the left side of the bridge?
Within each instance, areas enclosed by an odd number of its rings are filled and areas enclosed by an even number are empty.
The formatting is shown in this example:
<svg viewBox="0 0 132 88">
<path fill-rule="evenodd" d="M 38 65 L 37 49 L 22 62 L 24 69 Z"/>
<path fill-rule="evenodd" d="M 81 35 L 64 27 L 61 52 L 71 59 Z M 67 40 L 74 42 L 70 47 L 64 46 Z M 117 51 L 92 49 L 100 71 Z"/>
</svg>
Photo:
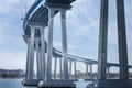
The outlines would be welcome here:
<svg viewBox="0 0 132 88">
<path fill-rule="evenodd" d="M 33 0 L 30 1 L 33 2 Z M 3 0 L 0 2 L 0 68 L 25 68 L 26 44 L 22 38 L 21 18 L 24 16 L 25 4 L 30 1 Z"/>
</svg>

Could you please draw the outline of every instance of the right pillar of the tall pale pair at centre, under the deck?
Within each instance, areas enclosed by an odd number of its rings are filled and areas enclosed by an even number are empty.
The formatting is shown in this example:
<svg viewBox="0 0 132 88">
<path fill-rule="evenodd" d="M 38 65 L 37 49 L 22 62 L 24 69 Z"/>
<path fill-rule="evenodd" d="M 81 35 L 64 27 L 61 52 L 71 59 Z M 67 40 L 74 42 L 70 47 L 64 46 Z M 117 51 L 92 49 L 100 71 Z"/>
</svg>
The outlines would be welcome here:
<svg viewBox="0 0 132 88">
<path fill-rule="evenodd" d="M 68 75 L 68 59 L 67 59 L 67 33 L 66 33 L 66 10 L 61 10 L 62 18 L 62 42 L 63 42 L 63 69 L 64 80 L 69 79 Z"/>
</svg>

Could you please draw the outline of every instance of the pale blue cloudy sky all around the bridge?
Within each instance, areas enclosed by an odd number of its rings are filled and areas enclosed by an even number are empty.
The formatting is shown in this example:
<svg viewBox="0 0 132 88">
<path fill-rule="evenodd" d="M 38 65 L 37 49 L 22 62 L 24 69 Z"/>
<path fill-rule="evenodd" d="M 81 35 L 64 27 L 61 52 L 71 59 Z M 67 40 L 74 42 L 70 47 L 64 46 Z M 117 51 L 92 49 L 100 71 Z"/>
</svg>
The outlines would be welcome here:
<svg viewBox="0 0 132 88">
<path fill-rule="evenodd" d="M 128 55 L 132 65 L 132 0 L 125 1 Z M 25 68 L 26 44 L 22 35 L 22 18 L 34 0 L 2 0 L 0 2 L 0 68 Z M 118 61 L 116 0 L 109 0 L 108 62 Z M 68 53 L 98 59 L 100 0 L 77 0 L 67 12 Z M 55 16 L 54 46 L 61 48 L 59 14 Z M 47 31 L 47 29 L 46 29 Z"/>
</svg>

